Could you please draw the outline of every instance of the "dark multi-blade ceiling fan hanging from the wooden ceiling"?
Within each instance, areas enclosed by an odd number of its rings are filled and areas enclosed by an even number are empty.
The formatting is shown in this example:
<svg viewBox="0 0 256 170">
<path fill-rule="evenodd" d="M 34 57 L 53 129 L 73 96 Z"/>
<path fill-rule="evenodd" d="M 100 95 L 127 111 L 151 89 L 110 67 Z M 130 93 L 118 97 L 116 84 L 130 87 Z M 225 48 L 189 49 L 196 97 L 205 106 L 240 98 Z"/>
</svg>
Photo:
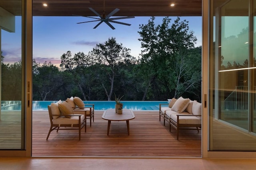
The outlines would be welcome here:
<svg viewBox="0 0 256 170">
<path fill-rule="evenodd" d="M 93 19 L 96 19 L 96 20 L 93 20 L 93 21 L 85 21 L 85 22 L 78 22 L 78 23 L 87 23 L 87 22 L 95 22 L 95 21 L 100 21 L 95 27 L 97 28 L 102 22 L 105 22 L 109 27 L 111 27 L 112 29 L 115 29 L 113 27 L 113 25 L 110 24 L 110 22 L 112 23 L 119 23 L 119 24 L 123 24 L 123 25 L 128 25 L 130 26 L 131 24 L 129 23 L 124 23 L 124 22 L 119 22 L 119 21 L 114 21 L 114 20 L 121 20 L 121 19 L 126 19 L 126 18 L 135 18 L 134 16 L 124 16 L 124 17 L 116 17 L 116 18 L 110 18 L 112 17 L 114 14 L 116 14 L 116 12 L 119 11 L 118 8 L 114 9 L 112 12 L 110 12 L 108 15 L 106 14 L 106 11 L 105 11 L 105 0 L 104 0 L 104 4 L 103 4 L 103 13 L 100 15 L 98 14 L 98 12 L 96 12 L 94 9 L 92 8 L 89 8 L 92 12 L 94 12 L 94 14 L 96 14 L 96 16 L 100 17 L 100 18 L 95 18 L 95 17 L 89 17 L 89 16 L 84 16 L 84 17 L 87 17 L 87 18 L 93 18 Z"/>
</svg>

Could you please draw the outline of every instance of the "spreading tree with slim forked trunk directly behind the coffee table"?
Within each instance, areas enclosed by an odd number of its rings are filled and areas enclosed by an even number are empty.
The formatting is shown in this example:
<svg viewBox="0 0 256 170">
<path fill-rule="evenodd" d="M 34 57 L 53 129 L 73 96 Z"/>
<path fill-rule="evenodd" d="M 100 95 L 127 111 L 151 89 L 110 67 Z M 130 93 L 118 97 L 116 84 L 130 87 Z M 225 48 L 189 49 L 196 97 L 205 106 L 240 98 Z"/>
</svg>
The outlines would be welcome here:
<svg viewBox="0 0 256 170">
<path fill-rule="evenodd" d="M 101 81 L 104 92 L 111 100 L 114 80 L 119 74 L 119 65 L 125 63 L 135 63 L 135 58 L 130 55 L 130 49 L 118 44 L 114 37 L 109 38 L 104 44 L 97 44 L 96 47 L 88 54 L 89 61 L 92 64 L 98 64 L 100 69 L 107 74 L 109 84 Z"/>
</svg>

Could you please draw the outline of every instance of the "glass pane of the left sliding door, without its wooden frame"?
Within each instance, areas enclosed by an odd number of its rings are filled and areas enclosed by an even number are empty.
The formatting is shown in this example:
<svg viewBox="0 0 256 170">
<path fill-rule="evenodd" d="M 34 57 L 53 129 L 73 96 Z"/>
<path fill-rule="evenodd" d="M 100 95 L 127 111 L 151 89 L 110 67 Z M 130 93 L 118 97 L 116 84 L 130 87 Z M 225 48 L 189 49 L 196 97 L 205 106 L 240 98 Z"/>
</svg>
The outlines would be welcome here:
<svg viewBox="0 0 256 170">
<path fill-rule="evenodd" d="M 21 4 L 20 0 L 20 8 Z M 22 18 L 21 14 L 15 16 L 4 7 L 0 8 L 4 21 L 1 22 L 0 149 L 24 149 L 24 111 L 21 109 Z"/>
</svg>

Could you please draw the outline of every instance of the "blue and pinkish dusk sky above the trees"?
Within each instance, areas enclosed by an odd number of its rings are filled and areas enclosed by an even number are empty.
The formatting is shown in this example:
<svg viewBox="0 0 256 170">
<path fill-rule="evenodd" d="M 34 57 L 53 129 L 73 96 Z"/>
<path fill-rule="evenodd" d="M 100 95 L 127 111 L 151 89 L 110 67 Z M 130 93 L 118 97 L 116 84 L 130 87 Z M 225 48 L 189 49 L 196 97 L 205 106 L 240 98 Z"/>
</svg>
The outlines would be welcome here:
<svg viewBox="0 0 256 170">
<path fill-rule="evenodd" d="M 156 17 L 155 24 L 161 24 L 163 17 Z M 177 17 L 170 17 L 172 21 Z M 202 17 L 180 17 L 181 20 L 189 21 L 190 31 L 198 41 L 196 46 L 202 45 Z M 109 37 L 115 37 L 117 43 L 131 49 L 131 55 L 138 57 L 141 51 L 139 24 L 147 24 L 150 17 L 135 17 L 118 20 L 132 24 L 131 26 L 113 23 L 116 28 L 112 30 L 108 25 L 102 23 L 96 29 L 93 27 L 98 23 L 77 22 L 91 21 L 85 17 L 33 17 L 33 58 L 40 64 L 45 61 L 58 66 L 60 57 L 67 51 L 72 55 L 78 52 L 88 54 L 98 43 L 104 43 Z M 171 21 L 171 23 L 173 23 Z M 2 31 L 2 51 L 5 56 L 4 63 L 13 63 L 20 60 L 20 18 L 16 18 L 16 33 Z"/>
</svg>

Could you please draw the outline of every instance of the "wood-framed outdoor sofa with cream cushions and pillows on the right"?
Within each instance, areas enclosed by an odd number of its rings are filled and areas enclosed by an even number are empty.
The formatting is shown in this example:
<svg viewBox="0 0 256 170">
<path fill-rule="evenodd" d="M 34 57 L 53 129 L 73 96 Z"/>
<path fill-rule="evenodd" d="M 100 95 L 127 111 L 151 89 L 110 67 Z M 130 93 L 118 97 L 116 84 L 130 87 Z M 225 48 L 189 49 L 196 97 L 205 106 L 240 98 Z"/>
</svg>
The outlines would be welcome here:
<svg viewBox="0 0 256 170">
<path fill-rule="evenodd" d="M 159 121 L 161 117 L 167 121 L 171 127 L 177 130 L 177 140 L 179 140 L 179 130 L 184 127 L 196 127 L 199 133 L 202 124 L 202 104 L 196 100 L 184 99 L 182 97 L 172 98 L 169 104 L 159 104 Z M 200 129 L 199 129 L 200 128 Z"/>
</svg>

